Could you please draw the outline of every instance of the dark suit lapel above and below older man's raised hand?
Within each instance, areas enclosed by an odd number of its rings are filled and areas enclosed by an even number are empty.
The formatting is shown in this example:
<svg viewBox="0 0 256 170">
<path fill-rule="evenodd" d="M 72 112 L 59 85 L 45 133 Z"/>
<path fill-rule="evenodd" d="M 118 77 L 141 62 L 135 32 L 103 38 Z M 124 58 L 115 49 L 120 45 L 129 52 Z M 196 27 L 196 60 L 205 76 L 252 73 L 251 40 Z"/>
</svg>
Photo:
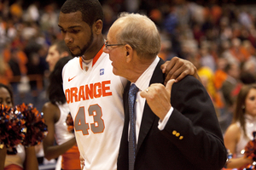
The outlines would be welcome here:
<svg viewBox="0 0 256 170">
<path fill-rule="evenodd" d="M 160 59 L 159 63 L 156 65 L 154 69 L 154 73 L 151 77 L 150 84 L 154 82 L 164 82 L 164 74 L 162 73 L 160 69 L 160 65 L 162 65 L 164 61 Z M 140 127 L 138 142 L 137 142 L 137 152 L 140 149 L 141 145 L 143 144 L 143 140 L 147 136 L 150 128 L 154 124 L 154 120 L 158 119 L 157 116 L 154 115 L 154 112 L 151 111 L 150 107 L 148 106 L 147 101 L 145 102 L 144 110 L 143 110 L 143 119 Z"/>
</svg>

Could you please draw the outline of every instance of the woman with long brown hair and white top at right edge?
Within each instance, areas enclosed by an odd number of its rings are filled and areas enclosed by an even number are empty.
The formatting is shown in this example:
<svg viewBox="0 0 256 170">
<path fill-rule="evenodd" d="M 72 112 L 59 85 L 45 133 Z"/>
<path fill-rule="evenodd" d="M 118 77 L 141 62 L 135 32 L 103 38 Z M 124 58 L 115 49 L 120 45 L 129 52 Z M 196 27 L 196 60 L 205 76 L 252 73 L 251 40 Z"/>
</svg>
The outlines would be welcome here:
<svg viewBox="0 0 256 170">
<path fill-rule="evenodd" d="M 224 134 L 224 144 L 233 157 L 227 161 L 227 168 L 242 169 L 253 160 L 245 157 L 241 150 L 253 139 L 256 125 L 256 84 L 244 85 L 236 99 L 232 124 Z"/>
</svg>

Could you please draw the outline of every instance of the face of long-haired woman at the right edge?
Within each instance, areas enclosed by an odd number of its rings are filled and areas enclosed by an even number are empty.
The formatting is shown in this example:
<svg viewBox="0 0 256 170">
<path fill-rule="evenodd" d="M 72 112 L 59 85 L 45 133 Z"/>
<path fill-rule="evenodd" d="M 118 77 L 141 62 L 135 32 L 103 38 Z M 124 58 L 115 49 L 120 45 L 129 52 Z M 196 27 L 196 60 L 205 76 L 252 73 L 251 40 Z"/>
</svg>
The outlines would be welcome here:
<svg viewBox="0 0 256 170">
<path fill-rule="evenodd" d="M 256 89 L 250 89 L 245 100 L 245 110 L 248 115 L 256 116 Z"/>
</svg>

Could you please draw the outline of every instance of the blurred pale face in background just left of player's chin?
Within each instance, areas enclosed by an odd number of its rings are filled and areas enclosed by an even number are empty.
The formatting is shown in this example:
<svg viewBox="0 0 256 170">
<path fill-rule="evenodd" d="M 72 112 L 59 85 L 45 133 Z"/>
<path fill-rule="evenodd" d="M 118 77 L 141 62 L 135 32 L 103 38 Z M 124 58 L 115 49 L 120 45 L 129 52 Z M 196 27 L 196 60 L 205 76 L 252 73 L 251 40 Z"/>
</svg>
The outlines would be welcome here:
<svg viewBox="0 0 256 170">
<path fill-rule="evenodd" d="M 46 62 L 49 65 L 49 71 L 53 71 L 55 68 L 55 64 L 57 61 L 61 59 L 61 54 L 57 51 L 56 46 L 50 46 L 48 50 L 48 54 L 46 56 Z"/>
</svg>

